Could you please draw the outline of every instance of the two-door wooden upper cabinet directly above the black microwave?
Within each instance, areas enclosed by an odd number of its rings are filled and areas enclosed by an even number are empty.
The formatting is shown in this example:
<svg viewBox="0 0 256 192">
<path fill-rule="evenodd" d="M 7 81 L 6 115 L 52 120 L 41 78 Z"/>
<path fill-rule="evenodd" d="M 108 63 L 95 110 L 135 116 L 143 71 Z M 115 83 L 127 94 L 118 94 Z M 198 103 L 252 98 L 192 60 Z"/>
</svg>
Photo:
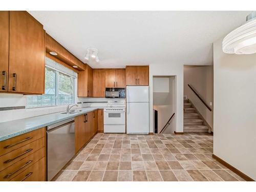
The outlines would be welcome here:
<svg viewBox="0 0 256 192">
<path fill-rule="evenodd" d="M 106 88 L 125 87 L 125 69 L 106 69 L 105 70 Z"/>
</svg>

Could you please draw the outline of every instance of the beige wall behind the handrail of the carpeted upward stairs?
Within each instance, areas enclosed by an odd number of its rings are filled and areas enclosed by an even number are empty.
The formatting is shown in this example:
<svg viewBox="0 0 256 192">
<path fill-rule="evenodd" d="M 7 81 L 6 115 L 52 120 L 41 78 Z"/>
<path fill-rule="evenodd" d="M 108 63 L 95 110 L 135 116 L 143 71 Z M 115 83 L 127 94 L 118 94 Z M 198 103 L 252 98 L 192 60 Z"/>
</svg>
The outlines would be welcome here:
<svg viewBox="0 0 256 192">
<path fill-rule="evenodd" d="M 214 112 L 210 102 L 214 101 L 214 67 L 213 66 L 184 66 L 184 95 L 193 102 L 197 110 L 207 121 L 213 131 Z M 196 94 L 187 86 L 191 84 L 201 98 L 210 106 L 209 111 Z"/>
</svg>

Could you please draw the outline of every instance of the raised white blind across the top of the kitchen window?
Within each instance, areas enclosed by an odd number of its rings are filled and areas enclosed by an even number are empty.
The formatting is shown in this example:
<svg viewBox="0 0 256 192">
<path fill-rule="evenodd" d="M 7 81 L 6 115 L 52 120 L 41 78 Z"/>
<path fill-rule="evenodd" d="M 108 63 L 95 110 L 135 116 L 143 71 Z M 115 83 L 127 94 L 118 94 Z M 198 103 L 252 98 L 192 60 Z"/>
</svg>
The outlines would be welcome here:
<svg viewBox="0 0 256 192">
<path fill-rule="evenodd" d="M 72 77 L 75 77 L 77 78 L 77 73 L 74 72 L 73 70 L 65 67 L 65 66 L 62 66 L 60 65 L 58 62 L 46 57 L 45 59 L 45 62 L 46 62 L 46 66 L 53 69 L 53 70 L 56 70 L 56 71 L 59 71 L 61 73 L 64 73 L 66 75 L 70 75 Z"/>
</svg>

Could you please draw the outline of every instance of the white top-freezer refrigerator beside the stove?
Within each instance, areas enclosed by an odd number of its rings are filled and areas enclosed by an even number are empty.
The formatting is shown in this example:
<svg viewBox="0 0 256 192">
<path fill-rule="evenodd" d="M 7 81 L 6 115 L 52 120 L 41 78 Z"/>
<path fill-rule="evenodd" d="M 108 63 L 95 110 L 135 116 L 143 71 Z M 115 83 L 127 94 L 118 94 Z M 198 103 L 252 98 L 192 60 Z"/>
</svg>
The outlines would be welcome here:
<svg viewBox="0 0 256 192">
<path fill-rule="evenodd" d="M 148 86 L 126 87 L 127 134 L 148 134 L 150 132 L 149 108 Z"/>
</svg>

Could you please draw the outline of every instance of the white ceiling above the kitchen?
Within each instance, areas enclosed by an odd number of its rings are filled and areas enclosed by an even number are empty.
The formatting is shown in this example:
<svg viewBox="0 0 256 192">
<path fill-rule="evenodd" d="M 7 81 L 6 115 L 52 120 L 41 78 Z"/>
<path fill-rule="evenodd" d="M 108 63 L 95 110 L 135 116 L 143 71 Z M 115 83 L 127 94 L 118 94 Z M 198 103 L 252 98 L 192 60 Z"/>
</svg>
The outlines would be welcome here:
<svg viewBox="0 0 256 192">
<path fill-rule="evenodd" d="M 62 46 L 93 68 L 212 65 L 212 43 L 248 11 L 29 11 Z M 87 48 L 100 61 L 87 61 Z"/>
</svg>

